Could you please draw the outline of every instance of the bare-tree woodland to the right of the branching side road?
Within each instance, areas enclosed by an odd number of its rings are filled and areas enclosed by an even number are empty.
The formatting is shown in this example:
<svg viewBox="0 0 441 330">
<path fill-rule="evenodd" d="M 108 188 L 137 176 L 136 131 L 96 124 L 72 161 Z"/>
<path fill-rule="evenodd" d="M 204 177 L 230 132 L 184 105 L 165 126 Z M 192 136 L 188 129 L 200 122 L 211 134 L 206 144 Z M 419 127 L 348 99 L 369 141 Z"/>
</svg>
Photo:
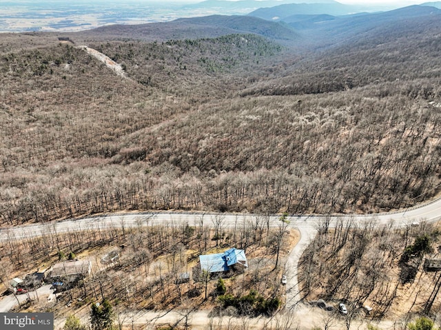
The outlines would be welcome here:
<svg viewBox="0 0 441 330">
<path fill-rule="evenodd" d="M 318 235 L 299 262 L 305 299 L 346 300 L 349 322 L 362 306 L 372 308 L 372 318 L 438 313 L 440 274 L 428 271 L 423 260 L 439 260 L 439 229 L 427 223 L 376 227 L 375 220 L 360 228 L 341 221 L 331 229 L 329 218 L 318 224 Z"/>
</svg>

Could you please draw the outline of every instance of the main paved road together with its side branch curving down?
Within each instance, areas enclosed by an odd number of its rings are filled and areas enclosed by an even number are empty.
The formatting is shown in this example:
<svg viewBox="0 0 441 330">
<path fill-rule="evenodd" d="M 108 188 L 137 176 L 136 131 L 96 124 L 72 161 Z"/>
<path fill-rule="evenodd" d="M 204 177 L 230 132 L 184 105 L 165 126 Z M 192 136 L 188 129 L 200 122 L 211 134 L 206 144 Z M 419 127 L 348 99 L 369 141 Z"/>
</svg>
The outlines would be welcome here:
<svg viewBox="0 0 441 330">
<path fill-rule="evenodd" d="M 198 225 L 203 221 L 204 226 L 214 226 L 218 222 L 221 227 L 241 227 L 247 223 L 256 223 L 255 214 L 214 214 L 214 213 L 182 213 L 182 212 L 158 212 L 158 213 L 127 213 L 112 214 L 107 216 L 88 217 L 81 219 L 63 220 L 57 223 L 43 223 L 38 225 L 23 225 L 1 229 L 0 242 L 7 240 L 21 240 L 36 236 L 43 236 L 49 233 L 63 233 L 68 231 L 79 231 L 84 229 L 110 229 L 128 228 L 147 225 L 179 225 L 188 223 Z M 441 198 L 435 199 L 430 203 L 403 209 L 400 212 L 389 212 L 381 214 L 352 214 L 352 215 L 309 215 L 309 216 L 288 216 L 288 228 L 300 231 L 300 241 L 290 252 L 287 258 L 287 289 L 286 300 L 287 309 L 294 309 L 300 302 L 300 292 L 298 290 L 297 265 L 302 252 L 305 250 L 310 240 L 316 235 L 318 225 L 327 219 L 329 227 L 335 227 L 338 222 L 350 221 L 353 227 L 359 227 L 367 221 L 373 220 L 376 225 L 389 225 L 391 227 L 404 227 L 416 225 L 420 221 L 435 222 L 441 219 Z M 260 217 L 260 221 L 266 219 Z M 280 216 L 269 216 L 269 226 L 277 227 L 280 225 Z M 2 303 L 0 302 L 0 307 Z M 1 309 L 1 308 L 0 308 Z"/>
</svg>

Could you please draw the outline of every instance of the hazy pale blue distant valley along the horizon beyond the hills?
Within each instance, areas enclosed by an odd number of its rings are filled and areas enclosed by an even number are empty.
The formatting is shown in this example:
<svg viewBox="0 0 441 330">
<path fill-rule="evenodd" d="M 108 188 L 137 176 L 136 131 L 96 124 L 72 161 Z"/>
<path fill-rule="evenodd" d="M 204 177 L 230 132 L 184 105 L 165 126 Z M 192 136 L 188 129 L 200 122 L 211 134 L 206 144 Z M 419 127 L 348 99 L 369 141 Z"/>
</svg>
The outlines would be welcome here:
<svg viewBox="0 0 441 330">
<path fill-rule="evenodd" d="M 258 8 L 298 2 L 298 14 L 349 14 L 390 10 L 387 6 L 345 6 L 333 0 L 208 0 L 192 3 L 173 1 L 2 1 L 0 32 L 72 32 L 111 24 L 140 24 L 172 21 L 183 17 L 212 14 L 246 15 Z M 319 2 L 318 5 L 316 2 Z"/>
</svg>

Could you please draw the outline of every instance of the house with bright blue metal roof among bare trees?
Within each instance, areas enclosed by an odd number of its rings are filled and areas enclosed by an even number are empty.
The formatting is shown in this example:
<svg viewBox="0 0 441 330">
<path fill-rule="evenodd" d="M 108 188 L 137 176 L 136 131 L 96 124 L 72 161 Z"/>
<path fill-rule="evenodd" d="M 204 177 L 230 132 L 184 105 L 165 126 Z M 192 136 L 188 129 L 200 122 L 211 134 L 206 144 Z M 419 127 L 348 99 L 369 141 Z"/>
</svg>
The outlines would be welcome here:
<svg viewBox="0 0 441 330">
<path fill-rule="evenodd" d="M 227 249 L 221 254 L 204 254 L 199 256 L 202 271 L 209 273 L 225 273 L 227 271 L 248 267 L 245 251 L 241 249 Z"/>
</svg>

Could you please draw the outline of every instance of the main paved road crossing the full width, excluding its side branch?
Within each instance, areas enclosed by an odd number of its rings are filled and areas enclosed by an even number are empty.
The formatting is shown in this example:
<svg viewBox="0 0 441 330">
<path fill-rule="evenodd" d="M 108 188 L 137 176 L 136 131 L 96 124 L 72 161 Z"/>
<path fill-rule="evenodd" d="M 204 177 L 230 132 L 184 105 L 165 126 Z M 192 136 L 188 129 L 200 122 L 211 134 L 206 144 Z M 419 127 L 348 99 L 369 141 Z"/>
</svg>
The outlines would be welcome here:
<svg viewBox="0 0 441 330">
<path fill-rule="evenodd" d="M 241 225 L 244 221 L 255 221 L 254 214 L 202 214 L 202 213 L 183 213 L 183 212 L 157 212 L 157 213 L 129 213 L 112 214 L 109 216 L 81 218 L 77 220 L 64 220 L 57 223 L 47 223 L 38 225 L 23 225 L 1 229 L 0 241 L 8 239 L 22 239 L 34 236 L 42 236 L 52 232 L 78 231 L 81 229 L 110 229 L 114 227 L 137 227 L 139 225 L 163 225 L 164 223 L 189 223 L 197 224 L 203 219 L 204 225 L 213 225 L 216 216 L 222 218 L 223 227 L 234 227 Z M 276 227 L 280 221 L 279 216 L 270 216 L 270 225 Z M 318 221 L 325 218 L 320 215 L 299 215 L 288 216 L 290 227 L 304 227 L 314 229 Z M 362 225 L 367 220 L 376 219 L 378 225 L 387 225 L 391 221 L 393 226 L 405 226 L 421 220 L 435 221 L 441 218 L 441 198 L 433 200 L 431 203 L 404 209 L 400 212 L 381 213 L 381 214 L 352 214 L 352 215 L 331 215 L 330 227 L 334 227 L 339 220 L 351 220 L 354 225 Z"/>
</svg>

